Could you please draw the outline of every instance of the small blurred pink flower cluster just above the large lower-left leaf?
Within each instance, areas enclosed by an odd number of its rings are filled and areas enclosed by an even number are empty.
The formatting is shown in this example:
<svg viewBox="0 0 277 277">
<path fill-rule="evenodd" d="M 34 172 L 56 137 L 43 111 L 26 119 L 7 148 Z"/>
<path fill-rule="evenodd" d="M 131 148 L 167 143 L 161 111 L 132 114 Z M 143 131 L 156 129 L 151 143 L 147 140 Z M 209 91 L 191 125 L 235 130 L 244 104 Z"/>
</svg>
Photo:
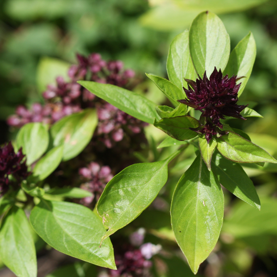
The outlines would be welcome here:
<svg viewBox="0 0 277 277">
<path fill-rule="evenodd" d="M 87 167 L 79 169 L 79 174 L 86 182 L 81 185 L 82 189 L 90 191 L 93 195 L 82 199 L 82 204 L 89 205 L 96 197 L 99 199 L 107 183 L 112 179 L 111 169 L 108 166 L 100 166 L 92 162 Z"/>
</svg>

